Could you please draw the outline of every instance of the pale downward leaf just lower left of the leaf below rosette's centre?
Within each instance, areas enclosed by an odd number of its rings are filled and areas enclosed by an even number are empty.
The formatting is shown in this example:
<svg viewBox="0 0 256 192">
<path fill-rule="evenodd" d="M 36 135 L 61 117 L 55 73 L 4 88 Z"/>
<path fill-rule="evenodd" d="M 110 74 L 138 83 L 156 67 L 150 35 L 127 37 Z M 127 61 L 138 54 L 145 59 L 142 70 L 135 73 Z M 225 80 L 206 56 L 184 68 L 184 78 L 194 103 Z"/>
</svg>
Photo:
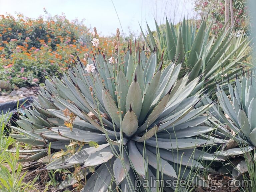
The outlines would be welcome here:
<svg viewBox="0 0 256 192">
<path fill-rule="evenodd" d="M 123 163 L 124 167 L 122 165 L 122 162 L 120 158 L 116 158 L 114 164 L 113 164 L 113 172 L 114 172 L 114 177 L 116 179 L 117 185 L 119 185 L 126 177 L 126 174 L 128 174 L 130 170 L 130 162 L 128 159 L 128 156 L 126 152 L 123 153 Z"/>
</svg>

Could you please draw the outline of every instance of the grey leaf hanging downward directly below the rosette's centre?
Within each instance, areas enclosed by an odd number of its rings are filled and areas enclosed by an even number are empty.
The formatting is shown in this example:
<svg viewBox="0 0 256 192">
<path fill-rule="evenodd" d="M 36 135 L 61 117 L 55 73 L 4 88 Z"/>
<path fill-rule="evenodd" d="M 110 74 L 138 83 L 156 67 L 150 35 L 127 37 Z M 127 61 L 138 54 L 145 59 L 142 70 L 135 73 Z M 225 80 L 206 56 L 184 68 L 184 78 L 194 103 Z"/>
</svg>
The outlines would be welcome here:
<svg viewBox="0 0 256 192">
<path fill-rule="evenodd" d="M 129 141 L 128 147 L 129 147 L 129 159 L 130 159 L 131 166 L 139 175 L 145 178 L 146 171 L 147 171 L 147 169 L 145 168 L 145 166 L 147 166 L 146 161 L 138 151 L 134 141 Z"/>
</svg>

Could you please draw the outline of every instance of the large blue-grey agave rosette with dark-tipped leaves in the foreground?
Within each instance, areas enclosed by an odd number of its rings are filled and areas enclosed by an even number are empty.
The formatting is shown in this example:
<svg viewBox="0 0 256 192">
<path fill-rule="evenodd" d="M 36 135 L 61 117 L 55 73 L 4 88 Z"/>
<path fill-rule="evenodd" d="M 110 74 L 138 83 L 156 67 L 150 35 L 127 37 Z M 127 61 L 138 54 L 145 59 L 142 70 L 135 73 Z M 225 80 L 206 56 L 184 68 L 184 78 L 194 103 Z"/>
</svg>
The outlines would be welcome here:
<svg viewBox="0 0 256 192">
<path fill-rule="evenodd" d="M 196 107 L 200 93 L 191 95 L 200 77 L 178 80 L 182 64 L 163 67 L 156 52 L 147 57 L 130 49 L 111 61 L 99 50 L 87 59 L 87 71 L 77 57 L 61 79 L 46 80 L 39 103 L 12 127 L 19 134 L 11 137 L 42 147 L 27 160 L 75 170 L 59 189 L 86 178 L 81 192 L 160 191 L 163 186 L 135 189 L 136 181 L 186 179 L 206 169 L 201 160 L 219 160 L 196 149 L 214 144 L 202 115 L 212 104 Z M 43 157 L 44 147 L 61 151 Z"/>
</svg>

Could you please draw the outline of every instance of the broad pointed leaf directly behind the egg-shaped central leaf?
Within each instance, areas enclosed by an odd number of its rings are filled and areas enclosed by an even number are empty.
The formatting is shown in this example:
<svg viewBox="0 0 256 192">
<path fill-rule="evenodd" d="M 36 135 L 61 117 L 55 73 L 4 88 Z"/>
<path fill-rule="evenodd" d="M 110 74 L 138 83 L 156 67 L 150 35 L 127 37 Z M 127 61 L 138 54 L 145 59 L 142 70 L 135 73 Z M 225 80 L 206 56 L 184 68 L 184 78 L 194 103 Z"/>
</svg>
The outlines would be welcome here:
<svg viewBox="0 0 256 192">
<path fill-rule="evenodd" d="M 140 117 L 140 112 L 142 108 L 142 95 L 140 90 L 140 85 L 137 82 L 137 77 L 135 75 L 134 81 L 129 87 L 127 97 L 126 97 L 126 111 L 130 110 L 130 106 L 134 111 L 137 119 Z"/>
</svg>

